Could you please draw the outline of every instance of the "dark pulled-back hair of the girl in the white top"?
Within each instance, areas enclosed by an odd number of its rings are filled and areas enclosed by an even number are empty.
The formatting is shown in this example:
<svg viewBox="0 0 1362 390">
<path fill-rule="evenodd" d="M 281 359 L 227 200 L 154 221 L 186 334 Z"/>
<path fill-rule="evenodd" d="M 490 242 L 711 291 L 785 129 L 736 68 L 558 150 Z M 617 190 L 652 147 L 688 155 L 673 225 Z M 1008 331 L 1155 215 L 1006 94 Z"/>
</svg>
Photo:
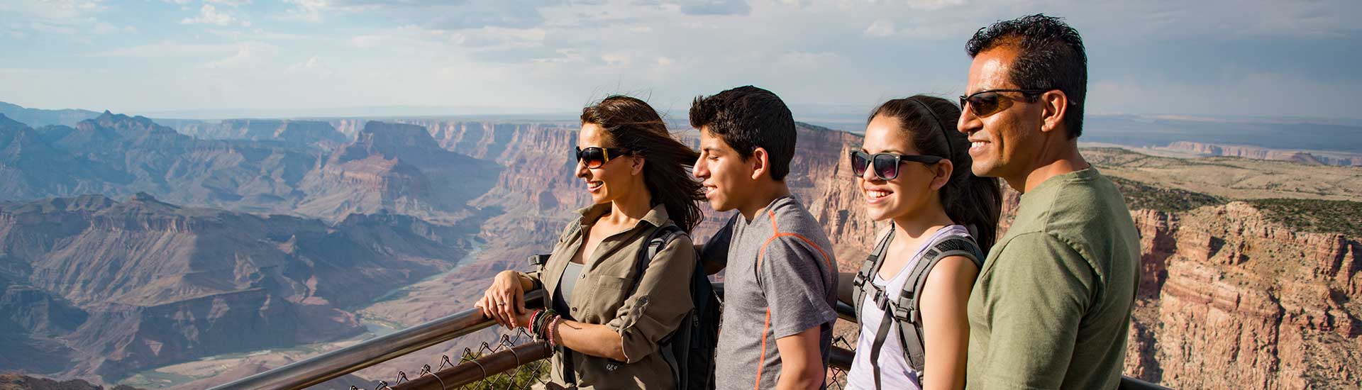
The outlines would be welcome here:
<svg viewBox="0 0 1362 390">
<path fill-rule="evenodd" d="M 955 169 L 938 192 L 941 206 L 952 221 L 974 228 L 974 240 L 987 254 L 997 240 L 1002 188 L 997 179 L 974 176 L 970 170 L 974 161 L 970 158 L 970 140 L 955 131 L 960 108 L 944 98 L 914 95 L 884 102 L 870 113 L 869 120 L 876 116 L 898 119 L 900 130 L 908 135 L 918 153 L 951 160 Z"/>
</svg>

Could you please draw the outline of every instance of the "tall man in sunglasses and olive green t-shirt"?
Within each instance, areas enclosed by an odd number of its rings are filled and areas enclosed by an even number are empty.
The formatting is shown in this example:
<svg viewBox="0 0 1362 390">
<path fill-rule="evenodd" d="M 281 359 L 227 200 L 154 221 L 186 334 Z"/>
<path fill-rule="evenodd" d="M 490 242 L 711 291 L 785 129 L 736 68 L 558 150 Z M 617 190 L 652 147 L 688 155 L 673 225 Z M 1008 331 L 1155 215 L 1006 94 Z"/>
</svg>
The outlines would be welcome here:
<svg viewBox="0 0 1362 390">
<path fill-rule="evenodd" d="M 1115 389 L 1140 239 L 1115 185 L 1079 154 L 1087 56 L 1032 15 L 981 29 L 957 124 L 972 170 L 1022 192 L 970 295 L 968 389 Z"/>
</svg>

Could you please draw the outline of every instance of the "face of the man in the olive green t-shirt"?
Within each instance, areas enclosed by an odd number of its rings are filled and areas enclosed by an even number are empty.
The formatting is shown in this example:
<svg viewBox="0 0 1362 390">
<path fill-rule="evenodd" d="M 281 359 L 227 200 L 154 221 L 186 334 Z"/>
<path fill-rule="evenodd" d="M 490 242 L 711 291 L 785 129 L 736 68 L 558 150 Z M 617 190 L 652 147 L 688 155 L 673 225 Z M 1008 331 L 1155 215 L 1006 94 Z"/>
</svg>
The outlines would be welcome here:
<svg viewBox="0 0 1362 390">
<path fill-rule="evenodd" d="M 1017 89 L 1009 75 L 1016 57 L 1017 49 L 1012 45 L 992 48 L 975 56 L 970 64 L 966 95 Z M 1024 179 L 1043 147 L 1041 105 L 1027 102 L 1022 93 L 997 93 L 994 98 L 1005 108 L 981 117 L 966 106 L 956 124 L 960 132 L 970 136 L 970 157 L 974 158 L 971 170 L 977 176 Z"/>
</svg>

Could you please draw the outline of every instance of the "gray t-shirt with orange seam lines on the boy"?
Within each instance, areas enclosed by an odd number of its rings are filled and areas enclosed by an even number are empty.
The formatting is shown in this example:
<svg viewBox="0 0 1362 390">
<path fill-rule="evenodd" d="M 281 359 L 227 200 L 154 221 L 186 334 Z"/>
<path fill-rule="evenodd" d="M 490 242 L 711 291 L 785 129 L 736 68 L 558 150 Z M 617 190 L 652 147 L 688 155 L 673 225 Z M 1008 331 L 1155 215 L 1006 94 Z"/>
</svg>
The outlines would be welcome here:
<svg viewBox="0 0 1362 390">
<path fill-rule="evenodd" d="M 718 389 L 775 389 L 775 341 L 819 327 L 823 365 L 838 314 L 838 262 L 823 226 L 793 196 L 782 196 L 733 229 L 725 273 L 723 325 L 715 353 Z"/>
</svg>

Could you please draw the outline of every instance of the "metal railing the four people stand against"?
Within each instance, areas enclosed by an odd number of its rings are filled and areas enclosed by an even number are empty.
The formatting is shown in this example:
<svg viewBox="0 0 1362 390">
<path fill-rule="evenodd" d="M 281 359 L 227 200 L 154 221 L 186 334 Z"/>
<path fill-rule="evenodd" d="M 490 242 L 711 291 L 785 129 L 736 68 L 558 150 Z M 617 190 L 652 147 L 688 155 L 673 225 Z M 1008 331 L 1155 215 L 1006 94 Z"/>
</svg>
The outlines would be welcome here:
<svg viewBox="0 0 1362 390">
<path fill-rule="evenodd" d="M 720 296 L 723 295 L 723 284 L 715 284 L 715 292 Z M 531 290 L 526 293 L 526 304 L 533 307 L 543 305 L 543 290 Z M 855 323 L 855 310 L 842 301 L 836 304 L 838 318 Z M 469 310 L 440 319 L 434 319 L 422 325 L 417 325 L 409 329 L 403 329 L 383 337 L 370 338 L 360 344 L 331 350 L 306 360 L 301 360 L 285 367 L 260 372 L 244 379 L 238 379 L 222 386 L 212 387 L 214 390 L 247 390 L 247 389 L 306 389 L 317 383 L 323 383 L 335 378 L 340 378 L 346 374 L 360 371 L 375 364 L 388 361 L 391 359 L 433 346 L 440 342 L 445 342 L 462 335 L 471 334 L 474 331 L 493 326 L 496 322 L 488 319 L 482 315 L 479 310 Z M 390 386 L 387 382 L 379 382 L 375 390 L 426 390 L 426 389 L 458 389 L 459 386 L 466 386 L 475 383 L 478 380 L 496 378 L 496 375 L 519 370 L 527 364 L 541 364 L 535 370 L 530 370 L 526 378 L 520 378 L 522 382 L 541 382 L 546 374 L 546 368 L 542 368 L 543 359 L 553 355 L 552 346 L 542 341 L 534 341 L 524 330 L 518 330 L 516 335 L 501 335 L 501 340 L 496 344 L 484 342 L 478 352 L 471 349 L 464 349 L 463 356 L 459 363 L 455 364 L 448 356 L 443 356 L 439 368 L 430 368 L 429 364 L 421 367 L 419 374 L 415 379 L 409 379 L 405 372 L 399 371 L 398 378 Z M 829 389 L 842 389 L 844 386 L 846 374 L 851 370 L 851 361 L 855 356 L 854 346 L 850 341 L 844 338 L 838 338 L 834 341 L 832 350 L 828 356 L 828 370 L 829 370 Z M 542 370 L 539 370 L 542 368 Z M 505 376 L 505 375 L 503 375 Z M 515 375 L 511 375 L 515 376 Z M 507 378 L 504 382 L 489 383 L 489 389 L 527 389 L 527 386 L 516 382 L 516 378 Z M 351 386 L 351 389 L 360 389 Z M 1121 383 L 1118 389 L 1126 390 L 1160 390 L 1167 389 L 1158 385 L 1152 385 L 1140 379 L 1121 376 Z"/>
</svg>

